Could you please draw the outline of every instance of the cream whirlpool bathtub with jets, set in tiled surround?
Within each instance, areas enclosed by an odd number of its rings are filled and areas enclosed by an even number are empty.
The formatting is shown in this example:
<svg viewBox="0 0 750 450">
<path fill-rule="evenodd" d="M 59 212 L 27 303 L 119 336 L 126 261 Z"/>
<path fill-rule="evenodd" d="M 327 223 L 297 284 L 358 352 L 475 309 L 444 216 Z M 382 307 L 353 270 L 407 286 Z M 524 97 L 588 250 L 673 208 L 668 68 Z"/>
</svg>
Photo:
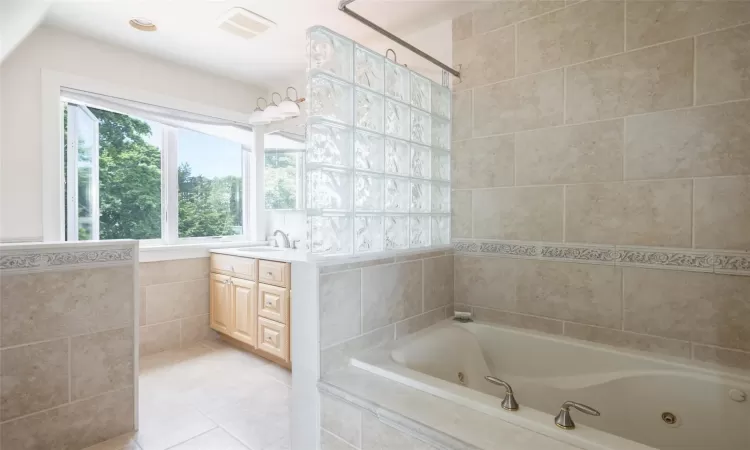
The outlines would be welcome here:
<svg viewBox="0 0 750 450">
<path fill-rule="evenodd" d="M 352 359 L 364 370 L 584 449 L 748 450 L 750 377 L 564 337 L 445 321 Z M 521 405 L 500 408 L 507 381 Z M 739 391 L 739 392 L 738 392 Z M 740 392 L 745 401 L 733 400 Z M 555 426 L 566 400 L 574 430 Z M 671 413 L 668 424 L 662 414 Z"/>
</svg>

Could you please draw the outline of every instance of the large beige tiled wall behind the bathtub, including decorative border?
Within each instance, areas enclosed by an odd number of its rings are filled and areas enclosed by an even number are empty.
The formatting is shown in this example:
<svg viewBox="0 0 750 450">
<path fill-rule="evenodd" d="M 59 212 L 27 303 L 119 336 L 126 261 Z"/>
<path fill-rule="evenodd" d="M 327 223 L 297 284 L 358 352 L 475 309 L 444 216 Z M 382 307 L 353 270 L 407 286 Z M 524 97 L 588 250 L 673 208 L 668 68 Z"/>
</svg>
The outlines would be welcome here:
<svg viewBox="0 0 750 450">
<path fill-rule="evenodd" d="M 497 2 L 453 39 L 456 303 L 750 369 L 750 2 Z"/>
</svg>

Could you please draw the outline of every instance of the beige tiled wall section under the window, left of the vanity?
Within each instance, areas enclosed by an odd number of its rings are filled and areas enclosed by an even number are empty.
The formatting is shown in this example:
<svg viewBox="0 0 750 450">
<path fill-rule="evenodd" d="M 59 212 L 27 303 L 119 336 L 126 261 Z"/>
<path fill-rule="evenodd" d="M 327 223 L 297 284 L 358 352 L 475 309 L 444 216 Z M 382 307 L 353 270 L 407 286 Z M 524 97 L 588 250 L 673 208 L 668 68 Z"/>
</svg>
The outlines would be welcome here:
<svg viewBox="0 0 750 450">
<path fill-rule="evenodd" d="M 141 263 L 141 354 L 213 339 L 208 324 L 208 258 Z"/>
</svg>

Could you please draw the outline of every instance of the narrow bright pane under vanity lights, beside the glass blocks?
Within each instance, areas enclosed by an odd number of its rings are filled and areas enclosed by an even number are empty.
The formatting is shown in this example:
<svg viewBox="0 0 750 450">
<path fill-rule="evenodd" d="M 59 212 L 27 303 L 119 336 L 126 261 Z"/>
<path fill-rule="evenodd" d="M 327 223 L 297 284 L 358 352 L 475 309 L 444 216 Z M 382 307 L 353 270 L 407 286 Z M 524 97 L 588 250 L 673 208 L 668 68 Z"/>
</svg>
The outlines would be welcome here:
<svg viewBox="0 0 750 450">
<path fill-rule="evenodd" d="M 304 136 L 269 134 L 265 137 L 266 209 L 302 209 Z"/>
</svg>

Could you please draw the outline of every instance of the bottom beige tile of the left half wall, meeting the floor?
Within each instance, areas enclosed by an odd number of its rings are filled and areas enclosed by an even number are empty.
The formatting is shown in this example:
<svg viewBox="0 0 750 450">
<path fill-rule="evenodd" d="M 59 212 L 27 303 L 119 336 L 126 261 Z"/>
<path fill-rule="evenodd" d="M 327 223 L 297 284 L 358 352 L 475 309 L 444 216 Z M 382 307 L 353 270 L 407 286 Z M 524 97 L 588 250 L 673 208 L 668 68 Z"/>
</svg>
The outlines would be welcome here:
<svg viewBox="0 0 750 450">
<path fill-rule="evenodd" d="M 80 449 L 133 431 L 133 395 L 126 388 L 4 423 L 2 447 Z"/>
</svg>

